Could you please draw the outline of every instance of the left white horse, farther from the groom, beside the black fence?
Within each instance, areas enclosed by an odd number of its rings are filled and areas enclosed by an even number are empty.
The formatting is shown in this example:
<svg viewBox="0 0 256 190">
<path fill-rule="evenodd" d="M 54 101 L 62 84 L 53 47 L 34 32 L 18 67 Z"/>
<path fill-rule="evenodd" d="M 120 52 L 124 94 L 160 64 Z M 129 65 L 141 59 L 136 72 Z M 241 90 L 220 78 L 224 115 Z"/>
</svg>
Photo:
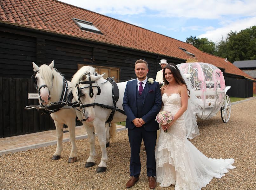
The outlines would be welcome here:
<svg viewBox="0 0 256 190">
<path fill-rule="evenodd" d="M 58 102 L 62 96 L 63 90 L 63 76 L 56 71 L 54 67 L 54 61 L 48 65 L 37 66 L 33 62 L 36 83 L 39 90 L 39 101 L 43 105 L 48 105 L 50 102 Z M 68 81 L 68 92 L 70 89 L 70 82 Z M 41 87 L 42 86 L 42 87 Z M 61 109 L 57 112 L 50 114 L 54 120 L 57 132 L 57 147 L 53 154 L 52 160 L 58 160 L 61 157 L 62 152 L 62 138 L 63 138 L 63 124 L 66 124 L 69 128 L 69 139 L 71 142 L 71 152 L 69 155 L 69 163 L 76 162 L 76 146 L 75 146 L 75 110 Z"/>
</svg>

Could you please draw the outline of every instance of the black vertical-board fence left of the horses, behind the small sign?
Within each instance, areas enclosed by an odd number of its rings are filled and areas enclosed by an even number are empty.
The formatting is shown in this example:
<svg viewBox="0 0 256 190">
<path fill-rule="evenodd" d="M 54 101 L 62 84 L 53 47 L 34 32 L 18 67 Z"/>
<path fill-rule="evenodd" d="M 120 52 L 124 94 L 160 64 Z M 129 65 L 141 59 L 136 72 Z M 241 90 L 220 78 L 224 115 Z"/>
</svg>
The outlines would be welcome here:
<svg viewBox="0 0 256 190">
<path fill-rule="evenodd" d="M 24 109 L 38 105 L 37 99 L 28 99 L 28 92 L 35 92 L 31 79 L 0 77 L 0 138 L 55 129 L 49 115 Z"/>
</svg>

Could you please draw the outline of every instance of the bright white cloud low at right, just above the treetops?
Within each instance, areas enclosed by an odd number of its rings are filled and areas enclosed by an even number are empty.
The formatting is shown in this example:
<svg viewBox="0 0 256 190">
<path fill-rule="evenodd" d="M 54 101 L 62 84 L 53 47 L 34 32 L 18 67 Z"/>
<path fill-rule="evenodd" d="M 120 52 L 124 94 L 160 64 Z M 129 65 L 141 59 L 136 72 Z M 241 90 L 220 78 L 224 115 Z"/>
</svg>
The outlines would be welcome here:
<svg viewBox="0 0 256 190">
<path fill-rule="evenodd" d="M 208 30 L 205 34 L 201 34 L 199 38 L 208 38 L 214 42 L 219 41 L 221 36 L 225 39 L 226 35 L 232 30 L 233 32 L 239 32 L 242 29 L 249 28 L 256 24 L 256 16 L 246 19 L 240 19 L 234 22 L 228 22 L 227 25 L 223 25 L 221 28 L 216 28 L 214 30 Z"/>
</svg>

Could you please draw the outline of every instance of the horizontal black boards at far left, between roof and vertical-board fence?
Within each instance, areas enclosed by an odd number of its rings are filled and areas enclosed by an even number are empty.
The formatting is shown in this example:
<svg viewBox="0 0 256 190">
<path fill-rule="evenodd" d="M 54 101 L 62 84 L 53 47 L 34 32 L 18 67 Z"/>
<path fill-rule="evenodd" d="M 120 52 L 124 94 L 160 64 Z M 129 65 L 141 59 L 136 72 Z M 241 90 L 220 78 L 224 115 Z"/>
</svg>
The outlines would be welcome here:
<svg viewBox="0 0 256 190">
<path fill-rule="evenodd" d="M 0 77 L 30 78 L 36 38 L 0 31 Z"/>
</svg>

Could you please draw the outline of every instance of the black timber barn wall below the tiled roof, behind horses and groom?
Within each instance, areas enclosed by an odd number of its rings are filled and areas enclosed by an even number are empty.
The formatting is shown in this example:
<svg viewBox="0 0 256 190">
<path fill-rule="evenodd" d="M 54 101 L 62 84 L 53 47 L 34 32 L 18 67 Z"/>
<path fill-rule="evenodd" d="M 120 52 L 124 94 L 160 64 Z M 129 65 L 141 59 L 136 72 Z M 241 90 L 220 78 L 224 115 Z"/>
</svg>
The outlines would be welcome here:
<svg viewBox="0 0 256 190">
<path fill-rule="evenodd" d="M 2 27 L 3 26 L 3 27 Z M 0 23 L 0 137 L 21 135 L 55 129 L 50 116 L 36 110 L 25 110 L 26 105 L 38 105 L 28 100 L 28 93 L 36 92 L 31 82 L 32 61 L 38 66 L 55 61 L 55 67 L 70 80 L 78 64 L 120 68 L 120 79 L 134 78 L 134 64 L 138 59 L 148 62 L 148 77 L 155 79 L 161 66 L 156 54 L 102 43 L 55 35 L 33 29 Z"/>
</svg>

